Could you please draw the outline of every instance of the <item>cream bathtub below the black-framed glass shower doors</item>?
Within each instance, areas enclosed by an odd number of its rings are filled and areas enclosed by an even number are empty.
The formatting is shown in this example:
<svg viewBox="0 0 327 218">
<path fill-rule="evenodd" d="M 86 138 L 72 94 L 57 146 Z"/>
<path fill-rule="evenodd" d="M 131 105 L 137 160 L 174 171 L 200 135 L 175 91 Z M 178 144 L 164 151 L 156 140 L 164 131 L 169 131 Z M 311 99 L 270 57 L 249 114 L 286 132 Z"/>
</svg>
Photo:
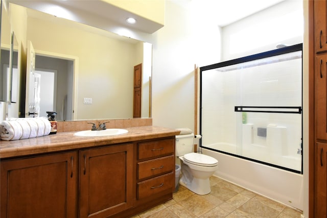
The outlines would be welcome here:
<svg viewBox="0 0 327 218">
<path fill-rule="evenodd" d="M 216 146 L 227 149 L 237 147 L 224 143 L 217 143 Z M 218 160 L 219 169 L 215 176 L 303 210 L 303 175 L 205 148 L 202 148 L 202 153 Z"/>
</svg>

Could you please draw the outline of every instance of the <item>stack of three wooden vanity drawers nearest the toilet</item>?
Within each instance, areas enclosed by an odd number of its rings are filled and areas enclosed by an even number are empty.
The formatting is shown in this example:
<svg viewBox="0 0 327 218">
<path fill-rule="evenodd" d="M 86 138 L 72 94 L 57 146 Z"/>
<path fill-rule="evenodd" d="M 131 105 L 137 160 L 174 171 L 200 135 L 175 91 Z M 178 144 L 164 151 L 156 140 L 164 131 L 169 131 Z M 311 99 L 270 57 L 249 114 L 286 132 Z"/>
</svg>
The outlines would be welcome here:
<svg viewBox="0 0 327 218">
<path fill-rule="evenodd" d="M 172 198 L 174 190 L 175 137 L 137 143 L 138 203 L 165 197 L 167 194 Z"/>
</svg>

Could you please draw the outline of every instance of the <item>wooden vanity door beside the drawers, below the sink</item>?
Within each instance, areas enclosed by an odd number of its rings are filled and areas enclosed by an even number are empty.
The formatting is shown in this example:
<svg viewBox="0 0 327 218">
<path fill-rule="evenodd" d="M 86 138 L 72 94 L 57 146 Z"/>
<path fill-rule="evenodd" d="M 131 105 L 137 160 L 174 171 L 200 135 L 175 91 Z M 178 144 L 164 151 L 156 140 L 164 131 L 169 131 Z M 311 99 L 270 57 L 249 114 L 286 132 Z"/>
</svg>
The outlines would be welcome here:
<svg viewBox="0 0 327 218">
<path fill-rule="evenodd" d="M 133 144 L 80 151 L 80 217 L 107 217 L 132 206 Z"/>
</svg>

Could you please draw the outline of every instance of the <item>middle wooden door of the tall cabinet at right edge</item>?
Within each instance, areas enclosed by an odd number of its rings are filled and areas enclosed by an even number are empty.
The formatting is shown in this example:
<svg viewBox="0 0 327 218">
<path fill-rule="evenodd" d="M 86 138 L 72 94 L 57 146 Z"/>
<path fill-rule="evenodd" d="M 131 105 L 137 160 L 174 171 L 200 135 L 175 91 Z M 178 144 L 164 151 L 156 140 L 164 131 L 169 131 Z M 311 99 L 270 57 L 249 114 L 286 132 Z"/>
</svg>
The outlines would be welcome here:
<svg viewBox="0 0 327 218">
<path fill-rule="evenodd" d="M 327 54 L 316 57 L 316 134 L 318 139 L 327 140 L 327 116 L 326 116 L 326 86 L 327 86 Z"/>
</svg>

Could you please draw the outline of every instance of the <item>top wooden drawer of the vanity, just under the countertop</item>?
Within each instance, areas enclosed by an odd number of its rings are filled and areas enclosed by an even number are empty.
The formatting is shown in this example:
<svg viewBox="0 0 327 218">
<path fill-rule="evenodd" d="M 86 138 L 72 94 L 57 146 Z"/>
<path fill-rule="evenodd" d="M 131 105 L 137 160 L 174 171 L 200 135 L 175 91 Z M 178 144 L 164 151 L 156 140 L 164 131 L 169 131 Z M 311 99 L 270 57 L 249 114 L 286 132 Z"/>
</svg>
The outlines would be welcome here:
<svg viewBox="0 0 327 218">
<path fill-rule="evenodd" d="M 138 143 L 138 160 L 163 155 L 173 155 L 175 138 Z"/>
</svg>

